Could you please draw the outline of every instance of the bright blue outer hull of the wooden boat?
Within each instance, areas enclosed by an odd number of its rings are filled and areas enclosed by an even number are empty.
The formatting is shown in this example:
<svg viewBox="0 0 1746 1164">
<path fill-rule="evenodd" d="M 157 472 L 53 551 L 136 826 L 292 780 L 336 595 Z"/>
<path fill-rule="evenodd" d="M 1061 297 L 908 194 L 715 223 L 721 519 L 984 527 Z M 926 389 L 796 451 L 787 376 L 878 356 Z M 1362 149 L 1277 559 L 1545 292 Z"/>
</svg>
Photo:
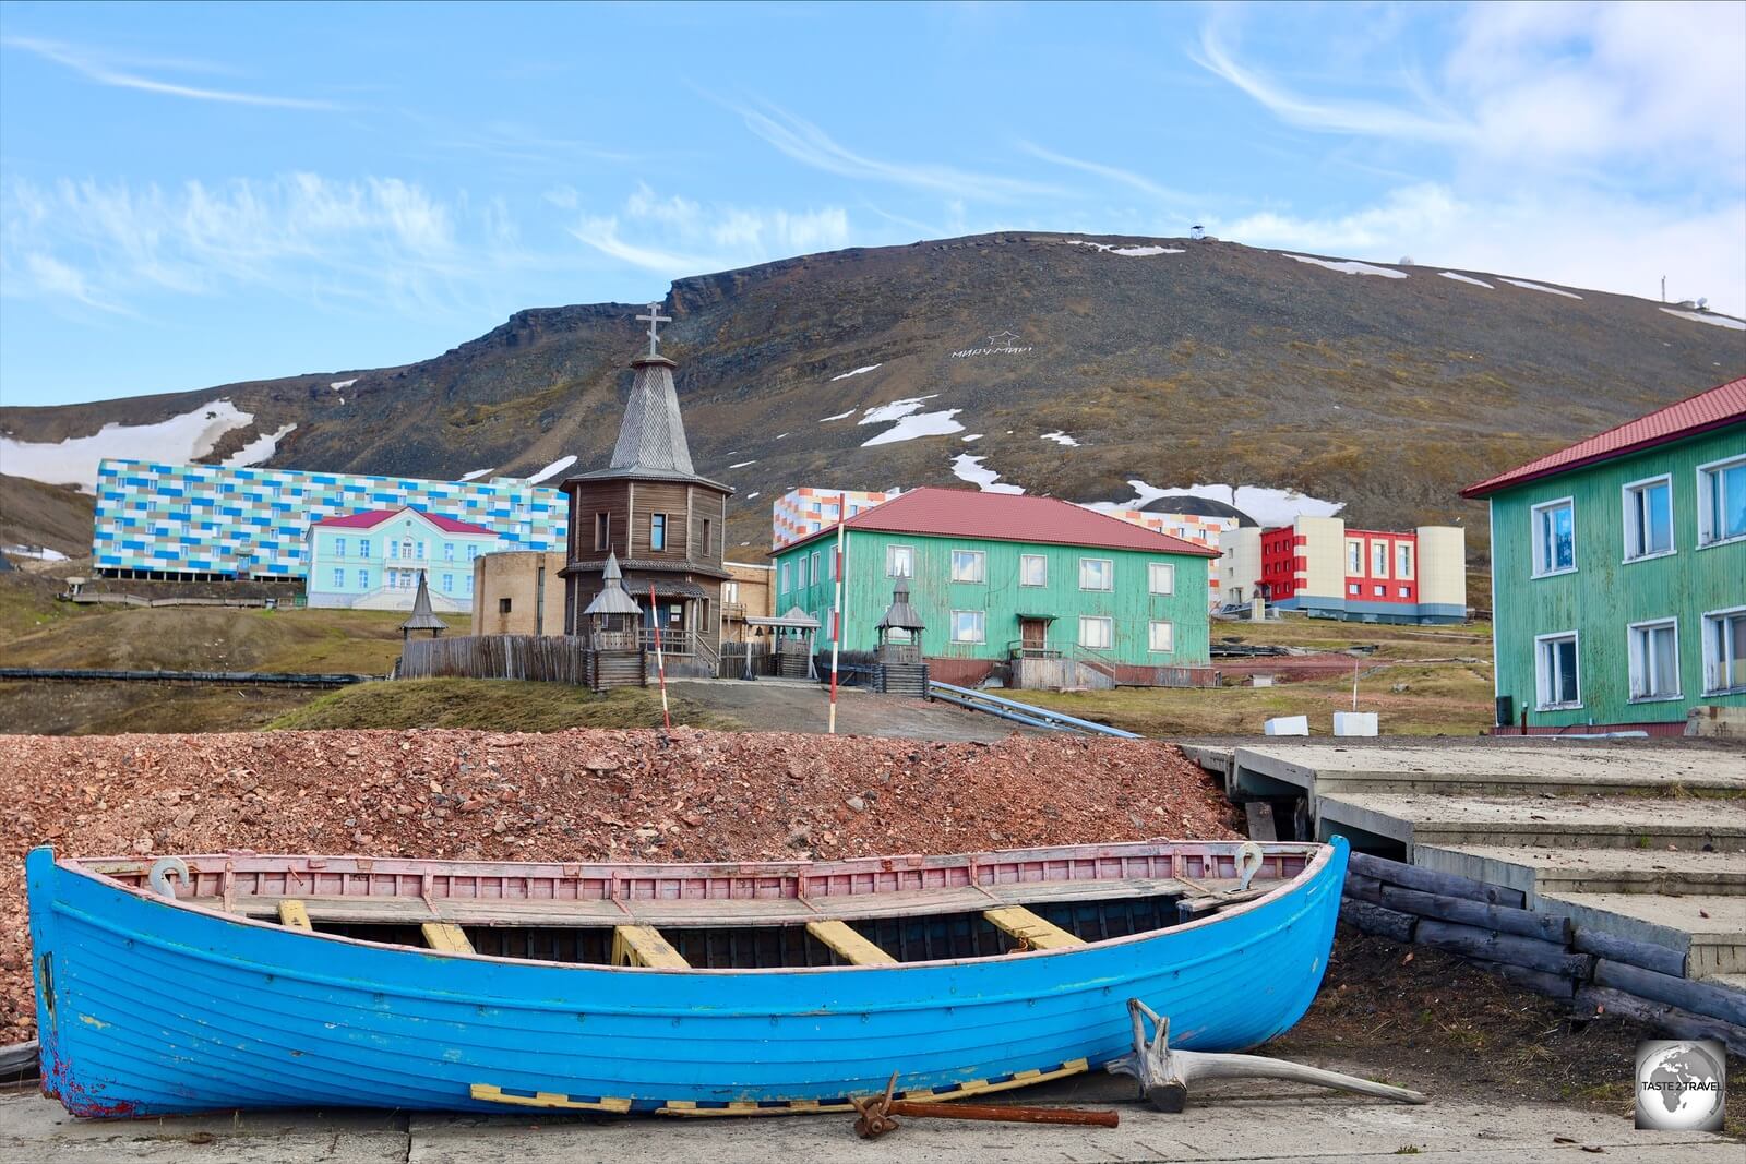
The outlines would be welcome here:
<svg viewBox="0 0 1746 1164">
<path fill-rule="evenodd" d="M 1130 1049 L 1290 1028 L 1327 965 L 1346 846 L 1189 925 L 896 967 L 656 970 L 452 956 L 192 909 L 28 859 L 44 1091 L 86 1117 L 225 1108 L 629 1112 L 969 1094 Z"/>
</svg>

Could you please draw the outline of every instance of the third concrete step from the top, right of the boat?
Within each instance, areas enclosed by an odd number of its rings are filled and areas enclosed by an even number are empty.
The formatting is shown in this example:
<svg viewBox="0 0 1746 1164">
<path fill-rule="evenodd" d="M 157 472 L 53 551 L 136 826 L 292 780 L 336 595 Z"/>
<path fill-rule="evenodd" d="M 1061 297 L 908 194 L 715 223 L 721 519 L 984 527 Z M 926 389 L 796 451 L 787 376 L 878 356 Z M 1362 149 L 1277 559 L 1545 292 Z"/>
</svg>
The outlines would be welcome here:
<svg viewBox="0 0 1746 1164">
<path fill-rule="evenodd" d="M 1536 894 L 1746 895 L 1746 859 L 1730 852 L 1419 843 L 1413 862 L 1521 890 L 1529 904 Z"/>
</svg>

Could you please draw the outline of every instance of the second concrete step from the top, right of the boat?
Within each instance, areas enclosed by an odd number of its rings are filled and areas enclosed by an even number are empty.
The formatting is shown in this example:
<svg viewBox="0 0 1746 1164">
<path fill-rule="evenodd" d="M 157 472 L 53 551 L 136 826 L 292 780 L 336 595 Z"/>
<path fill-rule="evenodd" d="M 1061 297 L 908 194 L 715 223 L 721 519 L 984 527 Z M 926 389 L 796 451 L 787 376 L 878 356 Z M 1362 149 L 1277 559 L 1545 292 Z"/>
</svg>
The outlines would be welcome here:
<svg viewBox="0 0 1746 1164">
<path fill-rule="evenodd" d="M 1533 848 L 1641 848 L 1746 853 L 1746 801 L 1351 794 L 1315 803 L 1316 838 L 1348 836 L 1358 848 L 1399 843 Z"/>
</svg>

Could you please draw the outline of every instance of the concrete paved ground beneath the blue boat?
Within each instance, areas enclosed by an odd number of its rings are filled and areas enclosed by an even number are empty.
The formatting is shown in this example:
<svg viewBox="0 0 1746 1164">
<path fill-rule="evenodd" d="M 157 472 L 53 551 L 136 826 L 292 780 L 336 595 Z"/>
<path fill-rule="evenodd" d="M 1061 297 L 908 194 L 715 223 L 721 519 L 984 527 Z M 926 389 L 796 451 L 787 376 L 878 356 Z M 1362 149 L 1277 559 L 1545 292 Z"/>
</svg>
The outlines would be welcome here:
<svg viewBox="0 0 1746 1164">
<path fill-rule="evenodd" d="M 211 1164 L 780 1164 L 843 1161 L 978 1161 L 980 1164 L 1138 1164 L 1142 1161 L 1392 1161 L 1486 1164 L 1592 1159 L 1699 1164 L 1727 1159 L 1704 1133 L 1634 1131 L 1629 1120 L 1550 1105 L 1451 1099 L 1421 1108 L 1306 1098 L 1283 1084 L 1208 1087 L 1186 1115 L 1126 1098 L 1124 1080 L 1098 1077 L 1023 1092 L 1025 1101 L 1116 1106 L 1121 1127 L 1051 1127 L 901 1120 L 876 1141 L 856 1140 L 845 1115 L 766 1119 L 634 1119 L 587 1122 L 529 1117 L 279 1112 L 136 1122 L 79 1122 L 35 1092 L 0 1096 L 0 1159 L 201 1161 Z M 1016 1096 L 1014 1096 L 1014 1101 Z M 1584 1154 L 1587 1148 L 1589 1154 Z"/>
</svg>

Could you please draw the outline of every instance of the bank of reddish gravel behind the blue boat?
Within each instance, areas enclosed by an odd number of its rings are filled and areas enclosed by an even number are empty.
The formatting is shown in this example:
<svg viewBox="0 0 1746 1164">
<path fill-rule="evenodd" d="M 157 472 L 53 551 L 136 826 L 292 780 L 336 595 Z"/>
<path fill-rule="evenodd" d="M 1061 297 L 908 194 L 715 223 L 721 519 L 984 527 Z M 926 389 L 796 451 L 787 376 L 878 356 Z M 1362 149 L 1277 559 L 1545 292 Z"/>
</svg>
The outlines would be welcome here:
<svg viewBox="0 0 1746 1164">
<path fill-rule="evenodd" d="M 578 729 L 0 736 L 0 1044 L 35 1002 L 23 857 L 753 860 L 1234 838 L 1158 742 Z"/>
</svg>

